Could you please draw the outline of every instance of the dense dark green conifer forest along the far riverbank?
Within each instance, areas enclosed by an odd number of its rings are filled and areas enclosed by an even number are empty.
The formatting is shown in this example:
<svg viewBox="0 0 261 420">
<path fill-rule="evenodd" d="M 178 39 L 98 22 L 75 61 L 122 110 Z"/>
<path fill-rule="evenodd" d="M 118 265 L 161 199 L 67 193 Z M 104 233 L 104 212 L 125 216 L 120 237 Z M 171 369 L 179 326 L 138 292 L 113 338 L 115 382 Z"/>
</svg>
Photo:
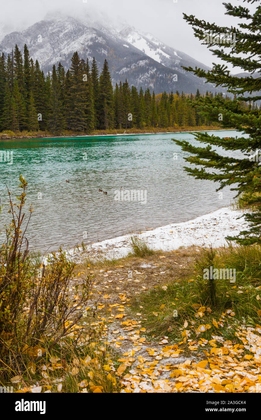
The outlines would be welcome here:
<svg viewBox="0 0 261 420">
<path fill-rule="evenodd" d="M 213 97 L 211 92 L 206 95 Z M 99 74 L 95 58 L 89 63 L 77 52 L 67 72 L 59 63 L 47 75 L 38 60 L 30 58 L 26 45 L 23 53 L 16 45 L 8 57 L 4 53 L 0 57 L 0 131 L 90 132 L 211 124 L 193 106 L 200 96 L 199 90 L 196 95 L 178 91 L 155 95 L 150 89 L 130 87 L 127 80 L 113 88 L 107 60 Z"/>
</svg>

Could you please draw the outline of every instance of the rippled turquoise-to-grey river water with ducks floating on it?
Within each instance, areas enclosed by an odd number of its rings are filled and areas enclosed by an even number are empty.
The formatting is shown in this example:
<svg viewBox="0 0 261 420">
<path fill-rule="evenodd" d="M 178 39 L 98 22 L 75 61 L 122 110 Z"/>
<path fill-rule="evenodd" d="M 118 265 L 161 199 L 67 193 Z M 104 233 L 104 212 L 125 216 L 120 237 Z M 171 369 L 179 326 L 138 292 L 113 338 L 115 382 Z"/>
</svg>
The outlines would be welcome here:
<svg viewBox="0 0 261 420">
<path fill-rule="evenodd" d="M 34 208 L 30 248 L 43 252 L 183 222 L 230 205 L 229 189 L 221 199 L 218 184 L 183 171 L 182 157 L 188 154 L 172 138 L 196 143 L 191 133 L 0 140 L 0 150 L 13 152 L 12 165 L 0 163 L 0 226 L 10 220 L 5 184 L 18 195 L 21 174 L 29 182 L 26 208 L 31 203 Z M 116 201 L 115 190 L 121 187 L 145 190 L 147 202 Z"/>
</svg>

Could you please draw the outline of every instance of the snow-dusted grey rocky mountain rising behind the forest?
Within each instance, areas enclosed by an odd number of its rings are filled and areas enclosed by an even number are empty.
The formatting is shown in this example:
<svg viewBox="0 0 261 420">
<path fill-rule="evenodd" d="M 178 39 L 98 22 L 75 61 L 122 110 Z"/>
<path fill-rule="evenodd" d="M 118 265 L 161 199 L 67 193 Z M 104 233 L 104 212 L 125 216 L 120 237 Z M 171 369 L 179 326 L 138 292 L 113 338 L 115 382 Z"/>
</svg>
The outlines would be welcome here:
<svg viewBox="0 0 261 420">
<path fill-rule="evenodd" d="M 213 85 L 204 84 L 202 79 L 181 68 L 181 65 L 207 66 L 130 26 L 117 30 L 72 17 L 49 18 L 22 32 L 6 35 L 0 42 L 0 52 L 11 53 L 16 44 L 21 50 L 26 44 L 31 57 L 39 61 L 45 73 L 59 61 L 67 70 L 72 53 L 78 51 L 80 58 L 95 57 L 100 70 L 106 58 L 114 85 L 127 79 L 137 88 L 154 89 L 155 94 L 164 90 L 186 93 L 196 93 L 198 88 L 202 93 L 215 90 Z"/>
</svg>

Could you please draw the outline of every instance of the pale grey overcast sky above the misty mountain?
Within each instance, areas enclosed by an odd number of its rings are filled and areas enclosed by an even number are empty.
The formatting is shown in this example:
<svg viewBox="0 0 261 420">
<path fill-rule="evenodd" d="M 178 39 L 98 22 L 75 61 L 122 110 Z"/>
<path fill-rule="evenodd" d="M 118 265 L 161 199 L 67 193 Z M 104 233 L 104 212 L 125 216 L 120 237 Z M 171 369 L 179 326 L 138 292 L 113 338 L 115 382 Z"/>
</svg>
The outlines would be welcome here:
<svg viewBox="0 0 261 420">
<path fill-rule="evenodd" d="M 194 38 L 193 30 L 182 13 L 220 25 L 236 26 L 238 20 L 225 16 L 222 0 L 2 0 L 0 39 L 12 31 L 21 31 L 57 11 L 70 16 L 93 16 L 101 21 L 126 21 L 144 32 L 150 32 L 166 44 L 212 65 L 213 55 Z M 176 1 L 176 0 L 175 0 Z M 231 0 L 232 4 L 243 1 Z M 252 7 L 253 9 L 253 7 Z M 217 62 L 217 60 L 215 60 Z M 233 70 L 235 72 L 235 69 Z"/>
</svg>

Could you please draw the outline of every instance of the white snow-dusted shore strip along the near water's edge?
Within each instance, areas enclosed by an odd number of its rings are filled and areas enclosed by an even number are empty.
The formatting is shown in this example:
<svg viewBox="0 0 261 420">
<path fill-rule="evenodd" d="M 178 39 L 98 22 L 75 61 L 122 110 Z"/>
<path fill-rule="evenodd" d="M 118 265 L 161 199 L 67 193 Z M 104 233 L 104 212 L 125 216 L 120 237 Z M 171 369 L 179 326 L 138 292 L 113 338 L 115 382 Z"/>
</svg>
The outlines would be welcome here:
<svg viewBox="0 0 261 420">
<path fill-rule="evenodd" d="M 201 247 L 204 244 L 220 247 L 226 243 L 226 236 L 236 235 L 246 228 L 244 218 L 238 219 L 242 215 L 242 211 L 222 207 L 194 220 L 160 226 L 154 230 L 142 232 L 139 236 L 146 238 L 147 243 L 153 249 L 162 249 L 163 251 L 190 247 L 191 245 Z M 125 257 L 130 251 L 129 235 L 126 235 L 87 245 L 85 251 L 81 247 L 71 249 L 68 254 L 75 262 L 81 262 L 87 256 L 108 259 Z"/>
</svg>

